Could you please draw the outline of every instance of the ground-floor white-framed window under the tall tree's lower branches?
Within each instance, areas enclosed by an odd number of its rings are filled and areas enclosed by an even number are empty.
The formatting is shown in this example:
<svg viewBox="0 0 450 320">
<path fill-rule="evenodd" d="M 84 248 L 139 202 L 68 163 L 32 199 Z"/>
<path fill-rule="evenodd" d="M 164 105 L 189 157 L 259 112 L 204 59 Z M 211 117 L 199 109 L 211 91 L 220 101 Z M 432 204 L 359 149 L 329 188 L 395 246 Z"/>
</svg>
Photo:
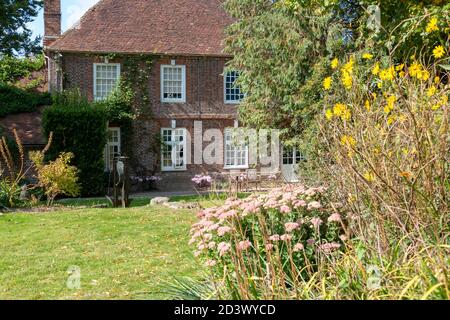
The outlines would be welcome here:
<svg viewBox="0 0 450 320">
<path fill-rule="evenodd" d="M 226 128 L 225 132 L 225 169 L 248 168 L 248 143 L 239 129 Z"/>
</svg>

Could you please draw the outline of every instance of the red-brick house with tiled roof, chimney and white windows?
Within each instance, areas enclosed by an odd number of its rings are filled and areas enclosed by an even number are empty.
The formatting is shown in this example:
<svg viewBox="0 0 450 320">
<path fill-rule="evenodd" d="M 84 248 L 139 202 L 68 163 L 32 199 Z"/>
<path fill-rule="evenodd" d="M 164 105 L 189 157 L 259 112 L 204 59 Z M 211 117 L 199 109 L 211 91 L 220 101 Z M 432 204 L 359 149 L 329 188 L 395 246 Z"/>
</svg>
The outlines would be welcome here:
<svg viewBox="0 0 450 320">
<path fill-rule="evenodd" d="M 230 142 L 227 129 L 238 125 L 237 107 L 244 95 L 234 85 L 238 72 L 225 69 L 232 56 L 224 53 L 223 39 L 233 20 L 222 1 L 100 0 L 61 34 L 60 0 L 45 0 L 44 20 L 50 91 L 78 88 L 91 101 L 105 99 L 127 57 L 152 58 L 144 78 L 149 112 L 133 120 L 131 141 L 124 141 L 121 128 L 110 124 L 106 170 L 124 143 L 132 144 L 127 156 L 133 160 L 133 174 L 157 174 L 165 188 L 187 186 L 196 174 L 251 167 L 248 147 Z M 195 154 L 196 143 L 202 149 L 211 143 L 204 141 L 208 129 L 224 134 L 215 154 L 220 163 Z M 194 141 L 199 133 L 201 140 Z M 155 152 L 157 136 L 161 148 Z M 299 155 L 293 151 L 281 158 L 290 165 Z"/>
</svg>

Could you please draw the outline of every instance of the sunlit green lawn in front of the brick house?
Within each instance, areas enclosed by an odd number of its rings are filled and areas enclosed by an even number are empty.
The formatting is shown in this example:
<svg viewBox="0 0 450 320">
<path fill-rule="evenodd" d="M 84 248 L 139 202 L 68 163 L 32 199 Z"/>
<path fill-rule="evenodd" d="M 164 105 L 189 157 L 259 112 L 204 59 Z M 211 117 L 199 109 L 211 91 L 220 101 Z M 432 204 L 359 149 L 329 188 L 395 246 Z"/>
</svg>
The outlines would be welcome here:
<svg viewBox="0 0 450 320">
<path fill-rule="evenodd" d="M 143 206 L 0 216 L 0 299 L 167 298 L 161 289 L 173 275 L 201 269 L 187 244 L 195 213 Z M 70 266 L 81 269 L 79 290 L 66 287 Z"/>
</svg>

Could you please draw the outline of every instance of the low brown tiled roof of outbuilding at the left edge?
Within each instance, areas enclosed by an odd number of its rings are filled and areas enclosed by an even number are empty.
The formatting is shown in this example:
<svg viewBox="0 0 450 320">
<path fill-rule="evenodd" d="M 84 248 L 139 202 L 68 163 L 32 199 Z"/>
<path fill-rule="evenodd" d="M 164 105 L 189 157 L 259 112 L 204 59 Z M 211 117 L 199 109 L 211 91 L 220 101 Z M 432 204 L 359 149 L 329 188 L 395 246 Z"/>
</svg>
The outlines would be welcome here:
<svg viewBox="0 0 450 320">
<path fill-rule="evenodd" d="M 45 144 L 41 124 L 41 109 L 36 112 L 18 113 L 0 118 L 0 126 L 5 129 L 5 134 L 13 138 L 13 129 L 15 128 L 24 145 Z"/>
</svg>

